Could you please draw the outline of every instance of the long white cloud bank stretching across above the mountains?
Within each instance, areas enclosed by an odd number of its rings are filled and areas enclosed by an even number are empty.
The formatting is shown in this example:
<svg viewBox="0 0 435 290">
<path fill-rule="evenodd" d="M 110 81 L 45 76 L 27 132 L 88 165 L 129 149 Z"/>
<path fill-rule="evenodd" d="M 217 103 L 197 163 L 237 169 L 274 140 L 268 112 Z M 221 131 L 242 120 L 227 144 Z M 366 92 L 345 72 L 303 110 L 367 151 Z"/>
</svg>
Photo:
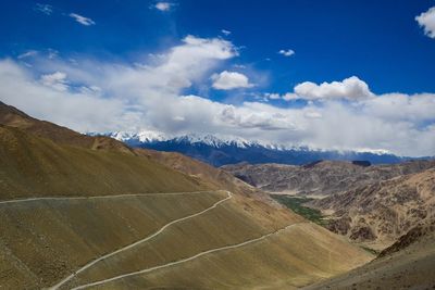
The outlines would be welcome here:
<svg viewBox="0 0 435 290">
<path fill-rule="evenodd" d="M 323 149 L 435 154 L 435 94 L 375 94 L 357 76 L 315 84 L 259 101 L 245 74 L 225 70 L 240 52 L 222 38 L 185 37 L 159 58 L 136 63 L 74 61 L 33 53 L 0 61 L 0 100 L 79 131 L 219 134 Z M 30 60 L 32 59 L 32 62 Z M 29 65 L 25 65 L 29 64 Z M 227 65 L 227 66 L 225 66 Z M 192 86 L 227 90 L 240 103 L 191 94 Z M 200 94 L 200 93 L 198 93 Z M 248 96 L 248 97 L 247 97 Z M 303 105 L 293 105 L 295 101 Z M 283 104 L 284 103 L 284 104 Z"/>
</svg>

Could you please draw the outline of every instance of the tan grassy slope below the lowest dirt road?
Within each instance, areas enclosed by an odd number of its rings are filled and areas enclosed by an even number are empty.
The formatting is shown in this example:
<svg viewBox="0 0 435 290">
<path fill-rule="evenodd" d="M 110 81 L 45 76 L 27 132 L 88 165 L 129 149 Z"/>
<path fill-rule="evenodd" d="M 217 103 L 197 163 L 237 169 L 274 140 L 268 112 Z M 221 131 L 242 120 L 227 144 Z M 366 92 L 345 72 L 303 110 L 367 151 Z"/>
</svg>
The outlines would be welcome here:
<svg viewBox="0 0 435 290">
<path fill-rule="evenodd" d="M 365 253 L 330 235 L 299 224 L 263 241 L 95 289 L 293 289 L 368 262 Z"/>
</svg>

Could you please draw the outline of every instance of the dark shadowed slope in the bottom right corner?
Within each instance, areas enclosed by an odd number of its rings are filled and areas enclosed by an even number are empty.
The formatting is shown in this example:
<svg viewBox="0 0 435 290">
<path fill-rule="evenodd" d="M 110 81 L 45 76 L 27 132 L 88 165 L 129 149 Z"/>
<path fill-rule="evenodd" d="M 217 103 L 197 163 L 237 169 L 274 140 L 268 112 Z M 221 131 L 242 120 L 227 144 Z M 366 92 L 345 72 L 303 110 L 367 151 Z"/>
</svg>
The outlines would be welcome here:
<svg viewBox="0 0 435 290">
<path fill-rule="evenodd" d="M 303 289 L 433 289 L 435 224 L 419 225 L 371 263 Z"/>
</svg>

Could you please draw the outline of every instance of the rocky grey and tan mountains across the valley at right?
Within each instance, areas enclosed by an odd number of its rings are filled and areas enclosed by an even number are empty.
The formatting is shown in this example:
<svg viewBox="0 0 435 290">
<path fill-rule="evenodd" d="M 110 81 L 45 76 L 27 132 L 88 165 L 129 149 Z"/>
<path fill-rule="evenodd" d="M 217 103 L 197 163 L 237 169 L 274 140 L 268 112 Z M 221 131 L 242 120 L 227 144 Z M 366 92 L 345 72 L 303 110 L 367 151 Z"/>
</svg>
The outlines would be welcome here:
<svg viewBox="0 0 435 290">
<path fill-rule="evenodd" d="M 311 198 L 326 227 L 350 241 L 383 250 L 420 222 L 435 222 L 435 161 L 363 166 L 322 161 L 297 166 L 235 164 L 222 167 L 258 189 Z"/>
</svg>

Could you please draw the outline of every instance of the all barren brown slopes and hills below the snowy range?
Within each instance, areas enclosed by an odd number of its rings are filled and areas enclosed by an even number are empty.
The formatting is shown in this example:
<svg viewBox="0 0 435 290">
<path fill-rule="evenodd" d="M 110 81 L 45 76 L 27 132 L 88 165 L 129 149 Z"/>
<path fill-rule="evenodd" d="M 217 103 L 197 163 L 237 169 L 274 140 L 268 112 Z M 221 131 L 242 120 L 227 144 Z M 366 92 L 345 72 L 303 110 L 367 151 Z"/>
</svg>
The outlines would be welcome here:
<svg viewBox="0 0 435 290">
<path fill-rule="evenodd" d="M 434 285 L 433 161 L 215 168 L 0 103 L 0 163 L 1 288 Z M 265 190 L 315 197 L 332 231 Z"/>
</svg>

